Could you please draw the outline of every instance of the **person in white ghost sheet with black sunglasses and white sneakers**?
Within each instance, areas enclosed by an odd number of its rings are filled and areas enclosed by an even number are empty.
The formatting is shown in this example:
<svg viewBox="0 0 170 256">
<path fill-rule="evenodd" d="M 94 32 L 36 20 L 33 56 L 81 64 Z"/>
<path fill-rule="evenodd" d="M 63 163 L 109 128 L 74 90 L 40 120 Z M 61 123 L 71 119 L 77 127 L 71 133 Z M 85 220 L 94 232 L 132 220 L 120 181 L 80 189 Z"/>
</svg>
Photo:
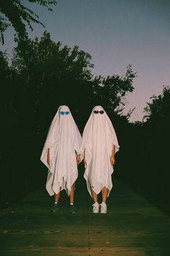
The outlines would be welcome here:
<svg viewBox="0 0 170 256">
<path fill-rule="evenodd" d="M 94 200 L 93 213 L 107 213 L 107 197 L 112 189 L 115 153 L 119 150 L 112 122 L 102 106 L 95 106 L 84 128 L 79 154 L 84 156 L 87 189 Z M 102 192 L 102 204 L 97 195 Z"/>
</svg>

